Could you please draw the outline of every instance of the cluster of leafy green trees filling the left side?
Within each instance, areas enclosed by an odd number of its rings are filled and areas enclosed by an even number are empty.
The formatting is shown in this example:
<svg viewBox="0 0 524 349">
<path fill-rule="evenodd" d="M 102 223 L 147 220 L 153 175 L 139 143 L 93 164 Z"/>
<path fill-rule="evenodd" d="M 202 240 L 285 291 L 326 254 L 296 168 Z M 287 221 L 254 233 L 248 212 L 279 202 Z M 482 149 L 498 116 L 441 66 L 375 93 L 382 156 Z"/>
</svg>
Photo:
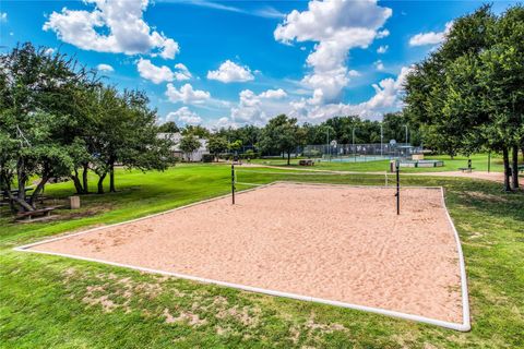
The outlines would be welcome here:
<svg viewBox="0 0 524 349">
<path fill-rule="evenodd" d="M 116 190 L 115 166 L 163 170 L 171 161 L 156 111 L 140 91 L 118 92 L 73 58 L 24 44 L 0 56 L 0 190 L 13 209 L 34 210 L 48 181 L 67 177 L 79 194 Z M 31 195 L 29 182 L 35 183 Z M 12 189 L 16 188 L 16 191 Z"/>
</svg>

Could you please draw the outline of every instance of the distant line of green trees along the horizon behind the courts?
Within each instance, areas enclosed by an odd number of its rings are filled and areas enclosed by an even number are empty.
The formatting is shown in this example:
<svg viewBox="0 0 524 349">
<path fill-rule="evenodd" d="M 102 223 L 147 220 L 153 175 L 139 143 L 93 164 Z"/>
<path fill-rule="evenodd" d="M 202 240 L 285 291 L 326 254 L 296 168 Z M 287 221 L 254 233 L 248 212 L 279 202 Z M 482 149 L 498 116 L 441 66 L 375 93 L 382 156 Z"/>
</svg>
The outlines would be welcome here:
<svg viewBox="0 0 524 349">
<path fill-rule="evenodd" d="M 299 124 L 297 119 L 285 115 L 269 120 L 264 127 L 243 125 L 222 128 L 214 132 L 201 125 L 188 125 L 179 129 L 175 122 L 160 125 L 162 132 L 181 132 L 180 148 L 191 153 L 199 147 L 192 137 L 207 139 L 207 149 L 218 157 L 224 153 L 239 153 L 248 156 L 283 155 L 290 158 L 293 153 L 306 145 L 327 144 L 335 140 L 338 144 L 398 143 L 420 145 L 422 136 L 418 127 L 412 127 L 402 113 L 386 113 L 382 121 L 362 120 L 356 116 L 334 117 L 319 124 Z M 382 139 L 381 139 L 382 132 Z M 188 146 L 194 144 L 194 147 Z M 183 145 L 183 149 L 182 149 Z"/>
</svg>

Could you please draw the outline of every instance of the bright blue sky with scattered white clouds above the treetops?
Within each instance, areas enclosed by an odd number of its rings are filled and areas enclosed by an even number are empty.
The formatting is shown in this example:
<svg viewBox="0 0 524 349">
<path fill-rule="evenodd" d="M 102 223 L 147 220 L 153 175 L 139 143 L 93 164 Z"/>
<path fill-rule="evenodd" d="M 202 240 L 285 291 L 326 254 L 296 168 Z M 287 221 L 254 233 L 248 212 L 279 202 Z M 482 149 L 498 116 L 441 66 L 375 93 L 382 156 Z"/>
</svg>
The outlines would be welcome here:
<svg viewBox="0 0 524 349">
<path fill-rule="evenodd" d="M 495 2 L 496 12 L 511 2 Z M 5 51 L 74 55 L 119 88 L 147 92 L 160 121 L 263 124 L 380 119 L 402 108 L 409 65 L 477 1 L 88 0 L 0 2 Z"/>
</svg>

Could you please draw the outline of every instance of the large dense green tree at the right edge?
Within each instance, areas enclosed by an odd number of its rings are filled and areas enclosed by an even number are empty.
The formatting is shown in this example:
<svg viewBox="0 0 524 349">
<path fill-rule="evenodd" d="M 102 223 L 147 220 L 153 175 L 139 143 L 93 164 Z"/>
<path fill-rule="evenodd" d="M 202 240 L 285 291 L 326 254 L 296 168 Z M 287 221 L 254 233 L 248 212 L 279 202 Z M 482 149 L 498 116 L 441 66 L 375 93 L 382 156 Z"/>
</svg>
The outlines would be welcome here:
<svg viewBox="0 0 524 349">
<path fill-rule="evenodd" d="M 484 5 L 454 21 L 444 43 L 407 77 L 406 112 L 453 154 L 502 152 L 511 190 L 510 149 L 516 168 L 523 137 L 524 10 L 500 16 Z M 513 188 L 519 185 L 513 171 Z"/>
</svg>

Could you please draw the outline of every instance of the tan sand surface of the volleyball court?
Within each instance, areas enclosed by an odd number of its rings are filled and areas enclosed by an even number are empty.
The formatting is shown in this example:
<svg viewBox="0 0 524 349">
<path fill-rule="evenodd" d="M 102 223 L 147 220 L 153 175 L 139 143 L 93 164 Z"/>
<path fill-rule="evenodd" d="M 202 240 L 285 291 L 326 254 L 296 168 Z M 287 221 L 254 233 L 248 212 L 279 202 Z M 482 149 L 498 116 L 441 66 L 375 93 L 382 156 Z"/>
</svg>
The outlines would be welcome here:
<svg viewBox="0 0 524 349">
<path fill-rule="evenodd" d="M 274 183 L 19 250 L 468 329 L 441 189 Z M 466 328 L 467 327 L 467 328 Z"/>
</svg>

